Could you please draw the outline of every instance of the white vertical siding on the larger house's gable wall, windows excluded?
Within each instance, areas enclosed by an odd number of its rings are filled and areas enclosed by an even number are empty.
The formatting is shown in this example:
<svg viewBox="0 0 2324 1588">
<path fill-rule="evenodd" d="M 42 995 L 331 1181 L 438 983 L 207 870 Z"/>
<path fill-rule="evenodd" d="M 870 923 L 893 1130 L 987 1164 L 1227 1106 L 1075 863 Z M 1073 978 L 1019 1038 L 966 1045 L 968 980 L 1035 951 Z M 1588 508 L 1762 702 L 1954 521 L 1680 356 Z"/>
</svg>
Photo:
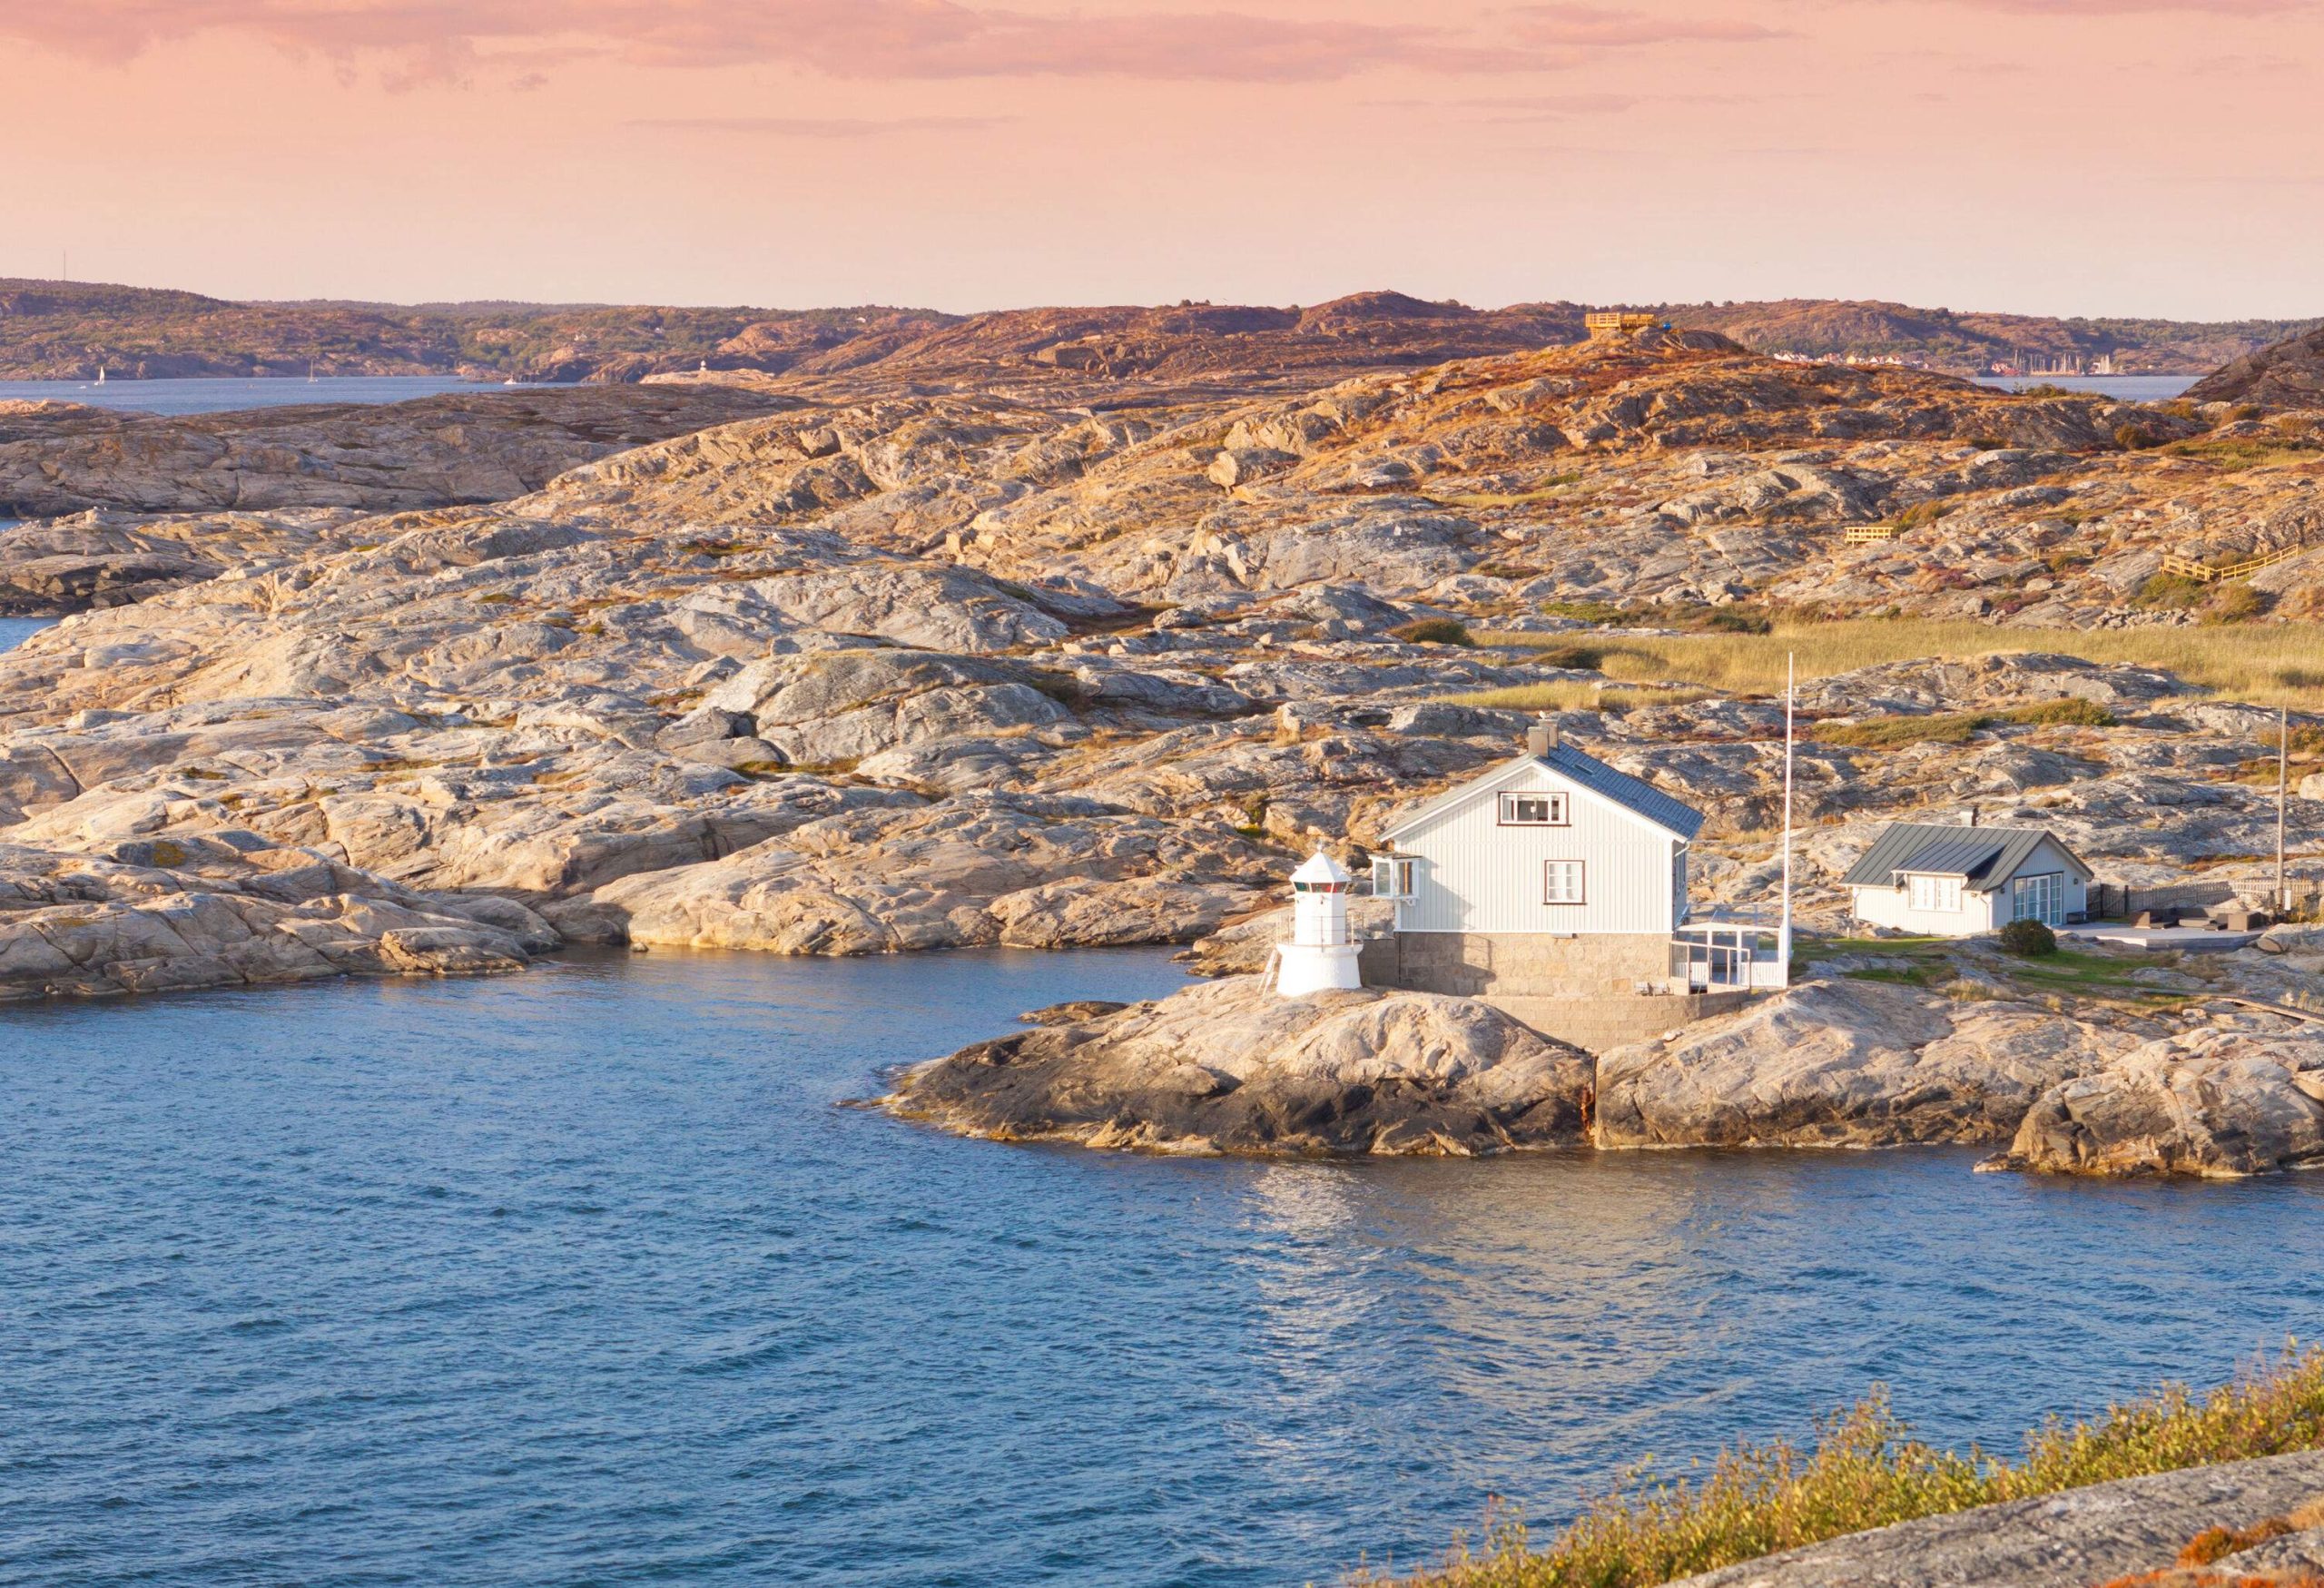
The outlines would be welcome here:
<svg viewBox="0 0 2324 1588">
<path fill-rule="evenodd" d="M 1504 828 L 1501 793 L 1569 795 L 1564 828 Z M 1418 856 L 1415 897 L 1397 907 L 1399 932 L 1669 932 L 1671 867 L 1683 844 L 1550 767 L 1532 763 L 1399 835 Z M 1545 904 L 1548 860 L 1580 860 L 1585 900 Z"/>
</svg>

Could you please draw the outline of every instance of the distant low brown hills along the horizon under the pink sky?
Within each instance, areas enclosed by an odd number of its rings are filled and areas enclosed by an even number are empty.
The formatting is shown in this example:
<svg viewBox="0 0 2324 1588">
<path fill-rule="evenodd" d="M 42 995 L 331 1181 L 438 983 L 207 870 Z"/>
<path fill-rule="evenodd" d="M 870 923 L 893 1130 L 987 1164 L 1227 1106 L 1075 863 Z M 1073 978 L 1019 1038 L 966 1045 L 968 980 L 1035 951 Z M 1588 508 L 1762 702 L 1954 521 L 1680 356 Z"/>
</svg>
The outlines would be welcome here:
<svg viewBox="0 0 2324 1588">
<path fill-rule="evenodd" d="M 1641 305 L 1766 353 L 1896 358 L 1952 374 L 2110 356 L 2124 374 L 2201 374 L 2324 321 L 2110 321 L 1957 314 L 1892 302 Z M 878 367 L 962 381 L 992 370 L 1081 379 L 1313 377 L 1520 351 L 1583 335 L 1583 305 L 1471 309 L 1404 293 L 1315 307 L 751 309 L 535 302 L 228 302 L 86 281 L 0 279 L 0 379 L 467 374 L 637 381 Z"/>
</svg>

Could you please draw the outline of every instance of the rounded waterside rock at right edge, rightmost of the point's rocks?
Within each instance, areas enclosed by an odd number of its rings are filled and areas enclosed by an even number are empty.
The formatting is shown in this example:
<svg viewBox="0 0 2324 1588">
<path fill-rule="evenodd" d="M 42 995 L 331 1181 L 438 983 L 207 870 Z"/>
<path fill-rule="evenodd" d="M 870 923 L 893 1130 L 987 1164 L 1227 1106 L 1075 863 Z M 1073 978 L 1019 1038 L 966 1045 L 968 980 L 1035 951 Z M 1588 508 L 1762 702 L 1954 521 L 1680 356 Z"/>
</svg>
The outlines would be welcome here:
<svg viewBox="0 0 2324 1588">
<path fill-rule="evenodd" d="M 1999 1167 L 2238 1176 L 2324 1160 L 2324 1035 L 2199 1030 L 2045 1090 Z"/>
</svg>

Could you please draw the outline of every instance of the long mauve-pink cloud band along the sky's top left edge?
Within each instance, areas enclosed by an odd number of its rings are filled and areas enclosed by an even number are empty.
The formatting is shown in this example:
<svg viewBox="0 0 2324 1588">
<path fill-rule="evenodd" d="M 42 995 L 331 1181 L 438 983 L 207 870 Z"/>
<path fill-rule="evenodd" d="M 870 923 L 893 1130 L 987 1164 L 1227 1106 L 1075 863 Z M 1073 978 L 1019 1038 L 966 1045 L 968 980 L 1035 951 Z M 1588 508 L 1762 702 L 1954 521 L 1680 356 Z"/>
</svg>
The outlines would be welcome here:
<svg viewBox="0 0 2324 1588">
<path fill-rule="evenodd" d="M 98 60 L 239 33 L 402 81 L 467 81 L 544 49 L 660 67 L 797 65 L 853 79 L 1332 81 L 1380 67 L 1513 72 L 1525 51 L 1436 23 L 1246 12 L 1034 14 L 960 0 L 0 0 L 0 37 Z"/>
</svg>

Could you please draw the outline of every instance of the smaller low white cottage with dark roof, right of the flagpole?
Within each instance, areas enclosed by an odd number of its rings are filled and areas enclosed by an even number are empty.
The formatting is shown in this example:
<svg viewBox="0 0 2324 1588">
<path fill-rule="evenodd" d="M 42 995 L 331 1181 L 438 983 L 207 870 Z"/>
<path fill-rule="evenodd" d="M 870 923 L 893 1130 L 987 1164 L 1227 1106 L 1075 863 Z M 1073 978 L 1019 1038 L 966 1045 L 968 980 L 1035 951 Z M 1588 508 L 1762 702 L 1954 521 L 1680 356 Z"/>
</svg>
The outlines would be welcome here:
<svg viewBox="0 0 2324 1588">
<path fill-rule="evenodd" d="M 2010 921 L 2066 925 L 2089 909 L 2092 870 L 2050 828 L 1892 821 L 1841 879 L 1857 921 L 1973 937 Z"/>
</svg>

